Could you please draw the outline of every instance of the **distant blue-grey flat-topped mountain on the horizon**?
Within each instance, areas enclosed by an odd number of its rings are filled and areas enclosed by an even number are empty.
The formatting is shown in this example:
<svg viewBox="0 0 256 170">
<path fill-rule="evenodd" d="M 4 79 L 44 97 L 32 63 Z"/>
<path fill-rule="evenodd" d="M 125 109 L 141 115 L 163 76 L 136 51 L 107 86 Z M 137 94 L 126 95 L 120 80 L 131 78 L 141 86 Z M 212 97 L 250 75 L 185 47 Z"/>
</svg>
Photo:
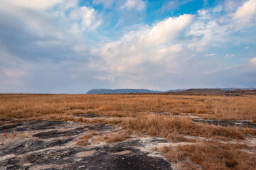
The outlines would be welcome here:
<svg viewBox="0 0 256 170">
<path fill-rule="evenodd" d="M 87 94 L 142 94 L 142 93 L 161 93 L 147 89 L 92 89 Z"/>
</svg>

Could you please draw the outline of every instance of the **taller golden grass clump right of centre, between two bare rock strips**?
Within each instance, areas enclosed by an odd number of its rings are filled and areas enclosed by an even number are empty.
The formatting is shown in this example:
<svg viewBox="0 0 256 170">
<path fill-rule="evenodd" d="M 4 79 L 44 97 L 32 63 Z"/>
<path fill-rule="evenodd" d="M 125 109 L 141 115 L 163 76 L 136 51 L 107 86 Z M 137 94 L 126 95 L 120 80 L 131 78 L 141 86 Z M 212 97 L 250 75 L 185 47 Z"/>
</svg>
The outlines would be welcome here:
<svg viewBox="0 0 256 170">
<path fill-rule="evenodd" d="M 139 130 L 152 136 L 166 137 L 175 140 L 178 135 L 201 137 L 228 137 L 242 140 L 245 135 L 256 135 L 256 130 L 238 127 L 222 127 L 215 125 L 196 124 L 189 118 L 174 116 L 139 115 L 135 120 L 124 121 L 122 127 L 128 130 Z"/>
</svg>

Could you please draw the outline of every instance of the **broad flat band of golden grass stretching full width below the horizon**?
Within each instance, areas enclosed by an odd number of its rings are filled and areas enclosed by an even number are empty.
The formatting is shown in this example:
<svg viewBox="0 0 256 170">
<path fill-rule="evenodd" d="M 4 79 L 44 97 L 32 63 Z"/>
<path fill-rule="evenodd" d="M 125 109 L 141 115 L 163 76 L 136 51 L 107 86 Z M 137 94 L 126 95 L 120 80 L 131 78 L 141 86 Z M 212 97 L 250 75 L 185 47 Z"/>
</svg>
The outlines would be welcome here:
<svg viewBox="0 0 256 170">
<path fill-rule="evenodd" d="M 202 118 L 256 120 L 256 96 L 0 94 L 0 118 L 97 113 L 131 117 L 147 112 L 193 113 Z"/>
</svg>

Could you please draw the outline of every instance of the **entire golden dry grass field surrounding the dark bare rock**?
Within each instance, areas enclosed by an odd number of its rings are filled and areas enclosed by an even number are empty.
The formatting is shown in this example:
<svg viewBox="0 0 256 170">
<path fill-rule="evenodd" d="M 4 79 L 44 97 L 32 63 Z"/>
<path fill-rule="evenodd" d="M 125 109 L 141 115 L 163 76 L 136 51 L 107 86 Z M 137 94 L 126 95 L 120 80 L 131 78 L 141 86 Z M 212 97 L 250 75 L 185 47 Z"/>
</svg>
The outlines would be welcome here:
<svg viewBox="0 0 256 170">
<path fill-rule="evenodd" d="M 255 169 L 255 103 L 254 95 L 0 94 L 0 143 L 4 148 L 11 138 L 33 137 L 16 131 L 19 122 L 60 120 L 80 126 L 107 124 L 115 128 L 105 131 L 87 126 L 89 130 L 77 132 L 74 145 L 117 146 L 137 139 L 145 144 L 143 148 L 147 152 L 168 160 L 171 169 Z M 14 128 L 3 128 L 9 123 Z M 68 137 L 70 132 L 60 134 Z M 152 145 L 145 142 L 153 141 L 147 137 L 166 142 Z"/>
</svg>

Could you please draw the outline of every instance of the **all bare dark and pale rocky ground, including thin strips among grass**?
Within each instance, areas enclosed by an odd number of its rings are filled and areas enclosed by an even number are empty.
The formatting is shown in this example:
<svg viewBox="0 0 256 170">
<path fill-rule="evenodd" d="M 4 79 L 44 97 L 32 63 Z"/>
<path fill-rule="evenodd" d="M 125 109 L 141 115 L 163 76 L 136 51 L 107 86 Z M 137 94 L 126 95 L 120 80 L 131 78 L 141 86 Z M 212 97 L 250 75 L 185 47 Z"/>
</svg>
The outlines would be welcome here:
<svg viewBox="0 0 256 170">
<path fill-rule="evenodd" d="M 169 115 L 158 112 L 154 114 Z M 74 116 L 107 119 L 93 113 Z M 176 116 L 192 118 L 194 123 L 256 128 L 255 123 L 250 121 L 204 120 L 190 114 Z M 159 151 L 165 146 L 193 144 L 168 142 L 164 138 L 138 134 L 132 134 L 121 142 L 108 143 L 102 140 L 106 135 L 111 137 L 119 132 L 125 130 L 107 124 L 70 121 L 37 120 L 0 124 L 0 169 L 178 169 L 177 164 L 168 162 Z M 92 133 L 101 136 L 101 140 L 91 138 L 87 145 L 78 145 L 81 137 Z M 206 137 L 184 137 L 188 141 L 212 140 Z M 255 146 L 256 140 L 255 137 L 247 137 L 229 143 Z M 198 166 L 198 169 L 201 168 Z"/>
</svg>

